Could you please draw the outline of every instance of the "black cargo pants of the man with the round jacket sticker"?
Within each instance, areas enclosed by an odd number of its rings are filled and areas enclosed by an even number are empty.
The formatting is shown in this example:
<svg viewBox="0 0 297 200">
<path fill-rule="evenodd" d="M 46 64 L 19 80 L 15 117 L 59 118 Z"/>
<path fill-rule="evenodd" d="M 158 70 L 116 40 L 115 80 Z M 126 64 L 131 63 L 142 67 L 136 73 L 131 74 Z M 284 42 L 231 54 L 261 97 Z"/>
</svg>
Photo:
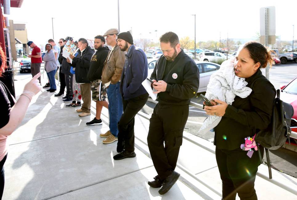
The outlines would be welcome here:
<svg viewBox="0 0 297 200">
<path fill-rule="evenodd" d="M 189 105 L 174 106 L 158 103 L 154 108 L 147 144 L 161 180 L 171 175 L 176 167 L 188 115 Z"/>
</svg>

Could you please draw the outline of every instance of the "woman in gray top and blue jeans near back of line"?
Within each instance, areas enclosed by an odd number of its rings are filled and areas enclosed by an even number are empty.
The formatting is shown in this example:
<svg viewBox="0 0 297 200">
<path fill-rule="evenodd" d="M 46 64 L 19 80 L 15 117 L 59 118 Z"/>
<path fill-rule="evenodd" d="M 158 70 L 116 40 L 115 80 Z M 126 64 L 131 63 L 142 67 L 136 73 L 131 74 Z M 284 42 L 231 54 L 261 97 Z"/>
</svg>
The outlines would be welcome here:
<svg viewBox="0 0 297 200">
<path fill-rule="evenodd" d="M 48 92 L 56 91 L 56 82 L 55 82 L 55 74 L 57 71 L 57 63 L 55 59 L 54 49 L 51 44 L 46 44 L 45 46 L 47 52 L 43 57 L 44 66 L 46 70 L 47 77 L 50 81 L 50 89 L 46 90 Z"/>
</svg>

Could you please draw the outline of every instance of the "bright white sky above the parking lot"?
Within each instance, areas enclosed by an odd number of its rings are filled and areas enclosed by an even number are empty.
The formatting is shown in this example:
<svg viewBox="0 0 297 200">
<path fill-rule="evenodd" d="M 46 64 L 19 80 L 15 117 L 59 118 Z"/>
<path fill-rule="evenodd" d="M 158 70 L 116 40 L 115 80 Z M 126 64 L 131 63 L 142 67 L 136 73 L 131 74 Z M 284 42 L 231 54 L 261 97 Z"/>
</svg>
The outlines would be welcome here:
<svg viewBox="0 0 297 200">
<path fill-rule="evenodd" d="M 297 40 L 296 0 L 202 1 L 119 0 L 120 31 L 132 30 L 134 39 L 157 39 L 167 31 L 196 41 L 235 38 L 252 39 L 260 32 L 260 8 L 275 6 L 276 36 Z M 25 23 L 28 40 L 45 44 L 67 36 L 93 39 L 108 29 L 118 28 L 118 0 L 24 0 L 11 8 L 14 23 Z M 156 31 L 157 30 L 157 31 Z"/>
</svg>

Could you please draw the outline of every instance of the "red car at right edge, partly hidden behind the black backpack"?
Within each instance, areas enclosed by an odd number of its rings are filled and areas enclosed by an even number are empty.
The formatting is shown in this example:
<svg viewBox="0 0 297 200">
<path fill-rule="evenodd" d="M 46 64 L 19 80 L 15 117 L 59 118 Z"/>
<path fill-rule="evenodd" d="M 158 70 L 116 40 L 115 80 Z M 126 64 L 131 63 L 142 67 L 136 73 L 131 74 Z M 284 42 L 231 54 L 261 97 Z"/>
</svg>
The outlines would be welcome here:
<svg viewBox="0 0 297 200">
<path fill-rule="evenodd" d="M 297 132 L 297 77 L 289 84 L 280 87 L 280 98 L 284 102 L 290 103 L 294 109 L 294 115 L 291 119 L 291 129 Z M 290 142 L 293 145 L 297 145 L 297 140 L 290 138 Z"/>
</svg>

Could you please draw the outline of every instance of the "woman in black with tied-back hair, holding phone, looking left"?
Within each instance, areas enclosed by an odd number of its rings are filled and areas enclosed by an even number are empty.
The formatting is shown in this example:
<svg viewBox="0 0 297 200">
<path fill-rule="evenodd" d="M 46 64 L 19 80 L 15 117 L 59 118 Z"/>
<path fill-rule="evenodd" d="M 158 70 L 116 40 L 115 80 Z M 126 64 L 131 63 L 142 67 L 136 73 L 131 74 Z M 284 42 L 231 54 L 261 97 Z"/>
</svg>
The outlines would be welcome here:
<svg viewBox="0 0 297 200">
<path fill-rule="evenodd" d="M 254 183 L 260 165 L 259 154 L 244 151 L 241 144 L 270 123 L 276 91 L 260 68 L 267 67 L 268 63 L 271 66 L 272 62 L 271 51 L 262 44 L 244 44 L 236 55 L 234 71 L 238 77 L 245 78 L 247 87 L 252 89 L 251 94 L 247 98 L 236 96 L 232 105 L 214 99 L 211 101 L 214 106 L 204 107 L 208 115 L 222 116 L 215 127 L 214 144 L 223 199 L 235 199 L 236 193 L 240 199 L 257 199 Z M 261 146 L 260 151 L 263 157 Z"/>
</svg>

